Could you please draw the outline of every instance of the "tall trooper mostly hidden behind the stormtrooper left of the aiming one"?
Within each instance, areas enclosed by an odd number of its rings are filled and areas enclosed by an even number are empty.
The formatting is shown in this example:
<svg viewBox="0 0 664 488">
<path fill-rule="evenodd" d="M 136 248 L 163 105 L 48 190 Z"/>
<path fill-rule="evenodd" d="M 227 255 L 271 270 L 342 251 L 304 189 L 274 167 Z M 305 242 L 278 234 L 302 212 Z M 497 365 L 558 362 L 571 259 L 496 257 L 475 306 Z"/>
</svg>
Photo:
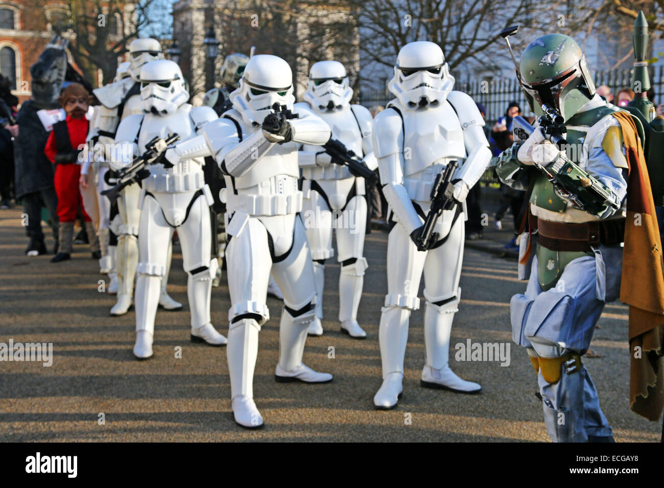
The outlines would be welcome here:
<svg viewBox="0 0 664 488">
<path fill-rule="evenodd" d="M 96 118 L 95 127 L 88 135 L 88 140 L 93 141 L 93 145 L 99 142 L 103 148 L 103 151 L 94 151 L 96 157 L 102 155 L 99 158 L 102 189 L 108 188 L 102 173 L 108 171 L 108 161 L 118 156 L 113 154 L 118 124 L 130 115 L 143 113 L 139 94 L 141 67 L 151 60 L 163 58 L 161 45 L 155 39 L 135 39 L 129 44 L 129 58 L 127 68 L 129 76 L 93 91 L 102 106 Z M 118 76 L 122 76 L 122 74 Z M 116 304 L 111 309 L 111 315 L 113 316 L 124 315 L 131 306 L 133 280 L 138 260 L 137 235 L 141 214 L 138 208 L 138 199 L 140 192 L 141 188 L 137 184 L 126 187 L 118 198 L 118 214 L 115 214 L 113 210 L 109 214 L 109 228 L 112 233 L 108 246 L 108 256 L 110 258 L 106 257 L 106 262 L 102 264 L 102 267 L 108 268 L 113 274 L 110 274 L 112 282 L 109 285 L 109 293 L 118 293 Z M 102 198 L 101 200 L 107 199 Z M 102 206 L 107 205 L 110 206 L 110 203 Z M 114 236 L 117 236 L 117 240 Z M 117 242 L 117 246 L 113 245 L 115 242 Z M 167 268 L 170 268 L 172 253 L 170 243 L 168 253 Z M 115 273 L 114 270 L 116 270 Z M 159 305 L 167 310 L 179 310 L 182 308 L 182 304 L 173 300 L 166 293 L 168 271 L 167 269 L 161 284 Z M 116 282 L 113 278 L 116 278 Z"/>
</svg>

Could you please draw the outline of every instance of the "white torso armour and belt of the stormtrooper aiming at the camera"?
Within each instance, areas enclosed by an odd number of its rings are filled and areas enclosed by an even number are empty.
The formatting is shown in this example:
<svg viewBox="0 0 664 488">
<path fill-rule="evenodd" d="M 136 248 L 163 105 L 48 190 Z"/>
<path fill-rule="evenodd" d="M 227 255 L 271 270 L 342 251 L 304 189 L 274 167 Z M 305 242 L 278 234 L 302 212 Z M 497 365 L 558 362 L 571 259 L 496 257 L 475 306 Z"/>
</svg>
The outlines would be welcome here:
<svg viewBox="0 0 664 488">
<path fill-rule="evenodd" d="M 261 130 L 244 121 L 238 123 L 244 137 Z M 245 175 L 226 176 L 225 179 L 222 201 L 226 201 L 228 212 L 240 210 L 249 215 L 285 215 L 302 209 L 302 192 L 297 185 L 297 144 L 293 142 L 272 145 Z"/>
</svg>

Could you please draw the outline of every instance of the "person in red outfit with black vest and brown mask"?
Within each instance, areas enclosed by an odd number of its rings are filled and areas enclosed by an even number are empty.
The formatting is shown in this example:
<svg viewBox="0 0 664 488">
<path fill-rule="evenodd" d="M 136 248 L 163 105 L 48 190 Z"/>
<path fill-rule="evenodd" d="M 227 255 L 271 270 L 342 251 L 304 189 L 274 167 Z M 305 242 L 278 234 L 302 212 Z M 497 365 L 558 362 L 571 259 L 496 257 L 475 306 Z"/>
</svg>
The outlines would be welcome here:
<svg viewBox="0 0 664 488">
<path fill-rule="evenodd" d="M 92 258 L 98 260 L 101 257 L 99 241 L 92 220 L 83 206 L 78 188 L 81 164 L 79 155 L 85 146 L 86 136 L 90 129 L 90 122 L 86 118 L 89 102 L 90 94 L 81 84 L 72 83 L 66 86 L 58 98 L 58 103 L 64 108 L 67 118 L 54 123 L 53 130 L 46 141 L 46 147 L 44 147 L 44 154 L 51 163 L 56 165 L 54 185 L 58 195 L 57 211 L 60 220 L 58 227 L 60 249 L 51 262 L 70 259 L 74 238 L 74 220 L 76 220 L 79 207 L 90 239 Z"/>
</svg>

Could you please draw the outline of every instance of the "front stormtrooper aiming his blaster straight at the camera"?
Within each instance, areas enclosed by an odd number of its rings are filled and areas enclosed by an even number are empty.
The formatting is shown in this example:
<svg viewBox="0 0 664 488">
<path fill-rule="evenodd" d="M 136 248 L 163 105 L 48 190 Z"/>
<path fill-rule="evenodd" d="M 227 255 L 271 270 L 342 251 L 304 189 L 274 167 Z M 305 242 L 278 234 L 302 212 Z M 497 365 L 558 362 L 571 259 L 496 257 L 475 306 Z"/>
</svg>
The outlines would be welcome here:
<svg viewBox="0 0 664 488">
<path fill-rule="evenodd" d="M 207 152 L 216 159 L 226 189 L 228 289 L 228 372 L 235 421 L 246 428 L 262 426 L 253 399 L 258 332 L 268 321 L 266 293 L 270 273 L 284 293 L 280 322 L 279 382 L 328 382 L 332 375 L 303 365 L 309 323 L 315 317 L 316 292 L 304 226 L 297 216 L 302 193 L 297 180 L 297 143 L 323 144 L 329 127 L 317 116 L 297 110 L 299 119 L 278 119 L 278 129 L 264 120 L 275 103 L 293 108 L 293 76 L 282 58 L 253 56 L 230 94 L 232 110 L 205 126 Z M 274 117 L 274 116 L 273 116 Z M 268 127 L 268 128 L 266 128 Z M 173 149 L 191 153 L 198 141 Z"/>
</svg>

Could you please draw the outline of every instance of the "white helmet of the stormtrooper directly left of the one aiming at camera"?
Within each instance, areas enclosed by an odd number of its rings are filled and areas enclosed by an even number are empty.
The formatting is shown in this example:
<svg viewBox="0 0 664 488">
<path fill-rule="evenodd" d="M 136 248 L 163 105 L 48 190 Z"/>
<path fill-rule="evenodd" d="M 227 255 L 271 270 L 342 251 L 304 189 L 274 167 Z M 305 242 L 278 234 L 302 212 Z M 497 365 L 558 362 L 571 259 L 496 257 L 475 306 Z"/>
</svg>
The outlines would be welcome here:
<svg viewBox="0 0 664 488">
<path fill-rule="evenodd" d="M 141 68 L 141 102 L 152 114 L 175 114 L 189 100 L 180 66 L 167 59 L 150 61 Z"/>
</svg>

